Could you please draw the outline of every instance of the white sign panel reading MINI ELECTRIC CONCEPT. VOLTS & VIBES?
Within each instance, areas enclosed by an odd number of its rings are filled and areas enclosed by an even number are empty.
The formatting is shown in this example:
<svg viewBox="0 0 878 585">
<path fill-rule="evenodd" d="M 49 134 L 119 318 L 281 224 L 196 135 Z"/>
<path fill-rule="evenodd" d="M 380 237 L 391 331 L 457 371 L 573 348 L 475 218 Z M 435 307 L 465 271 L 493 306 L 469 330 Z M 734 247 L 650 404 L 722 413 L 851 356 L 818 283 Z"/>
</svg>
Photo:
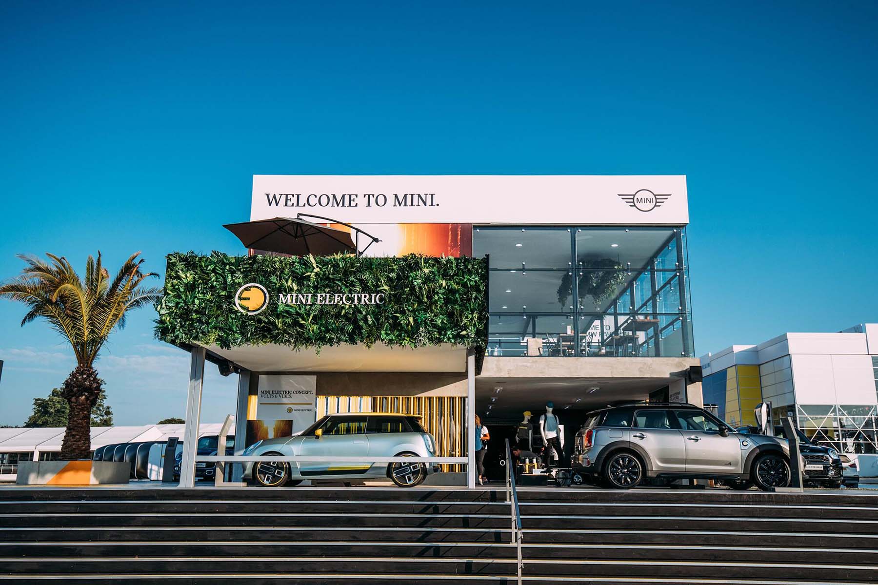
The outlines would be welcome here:
<svg viewBox="0 0 878 585">
<path fill-rule="evenodd" d="M 317 416 L 317 376 L 260 375 L 256 417 L 291 420 L 292 432 L 304 431 Z"/>
</svg>

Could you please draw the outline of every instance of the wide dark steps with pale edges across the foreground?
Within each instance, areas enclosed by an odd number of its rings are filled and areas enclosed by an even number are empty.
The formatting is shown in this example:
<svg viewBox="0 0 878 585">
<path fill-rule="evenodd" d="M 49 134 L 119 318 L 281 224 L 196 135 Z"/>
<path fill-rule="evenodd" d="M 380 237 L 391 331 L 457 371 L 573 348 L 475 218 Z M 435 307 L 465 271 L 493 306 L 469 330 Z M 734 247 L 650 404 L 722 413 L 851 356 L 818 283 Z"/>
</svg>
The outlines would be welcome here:
<svg viewBox="0 0 878 585">
<path fill-rule="evenodd" d="M 521 489 L 528 583 L 878 582 L 878 494 Z M 0 489 L 0 581 L 512 583 L 505 493 Z"/>
</svg>

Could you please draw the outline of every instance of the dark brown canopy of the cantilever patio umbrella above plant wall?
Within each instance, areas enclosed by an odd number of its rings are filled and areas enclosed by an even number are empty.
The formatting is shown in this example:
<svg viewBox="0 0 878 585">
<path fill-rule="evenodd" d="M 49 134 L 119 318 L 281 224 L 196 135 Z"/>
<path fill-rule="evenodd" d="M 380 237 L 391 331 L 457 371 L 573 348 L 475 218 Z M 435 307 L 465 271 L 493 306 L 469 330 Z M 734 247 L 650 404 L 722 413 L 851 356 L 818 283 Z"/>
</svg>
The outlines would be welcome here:
<svg viewBox="0 0 878 585">
<path fill-rule="evenodd" d="M 299 218 L 274 218 L 223 225 L 241 243 L 253 250 L 287 253 L 295 256 L 356 253 L 349 232 Z"/>
</svg>

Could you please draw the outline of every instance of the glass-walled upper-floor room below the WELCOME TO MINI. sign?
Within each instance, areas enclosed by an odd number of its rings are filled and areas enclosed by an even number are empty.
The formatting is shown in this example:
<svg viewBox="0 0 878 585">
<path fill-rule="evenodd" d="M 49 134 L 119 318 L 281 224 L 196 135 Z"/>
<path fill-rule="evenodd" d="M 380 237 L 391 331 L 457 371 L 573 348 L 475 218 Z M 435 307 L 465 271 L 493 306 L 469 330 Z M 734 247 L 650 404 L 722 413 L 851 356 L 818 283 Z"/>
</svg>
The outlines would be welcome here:
<svg viewBox="0 0 878 585">
<path fill-rule="evenodd" d="M 475 226 L 488 355 L 694 357 L 686 231 Z"/>
</svg>

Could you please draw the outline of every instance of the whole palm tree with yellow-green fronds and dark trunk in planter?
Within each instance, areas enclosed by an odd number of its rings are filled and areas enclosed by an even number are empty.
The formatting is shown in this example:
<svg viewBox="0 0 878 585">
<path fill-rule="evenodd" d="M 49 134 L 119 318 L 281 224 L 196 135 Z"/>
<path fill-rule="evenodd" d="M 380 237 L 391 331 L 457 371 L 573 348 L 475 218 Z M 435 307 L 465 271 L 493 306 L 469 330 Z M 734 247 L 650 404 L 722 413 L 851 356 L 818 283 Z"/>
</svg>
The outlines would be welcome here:
<svg viewBox="0 0 878 585">
<path fill-rule="evenodd" d="M 43 317 L 73 347 L 76 368 L 61 386 L 61 396 L 70 405 L 61 459 L 89 459 L 91 408 L 103 384 L 94 367 L 97 354 L 112 330 L 125 326 L 126 311 L 155 303 L 162 289 L 140 286 L 148 277 L 158 276 L 140 271 L 140 252 L 126 260 L 112 280 L 101 264 L 101 253 L 97 253 L 97 260 L 89 256 L 84 281 L 66 258 L 46 255 L 49 261 L 19 255 L 27 266 L 16 278 L 0 285 L 0 297 L 30 308 L 21 325 Z"/>
</svg>

